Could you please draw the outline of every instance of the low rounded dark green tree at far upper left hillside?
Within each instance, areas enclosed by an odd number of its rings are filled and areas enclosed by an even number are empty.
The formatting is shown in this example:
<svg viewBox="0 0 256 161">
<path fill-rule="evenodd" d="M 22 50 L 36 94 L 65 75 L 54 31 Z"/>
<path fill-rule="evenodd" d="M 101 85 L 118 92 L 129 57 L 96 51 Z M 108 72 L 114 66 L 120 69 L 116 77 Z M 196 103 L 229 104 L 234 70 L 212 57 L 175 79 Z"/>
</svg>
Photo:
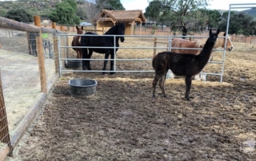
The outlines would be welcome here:
<svg viewBox="0 0 256 161">
<path fill-rule="evenodd" d="M 6 18 L 15 20 L 17 22 L 33 22 L 33 17 L 24 9 L 9 10 L 6 13 Z"/>
</svg>

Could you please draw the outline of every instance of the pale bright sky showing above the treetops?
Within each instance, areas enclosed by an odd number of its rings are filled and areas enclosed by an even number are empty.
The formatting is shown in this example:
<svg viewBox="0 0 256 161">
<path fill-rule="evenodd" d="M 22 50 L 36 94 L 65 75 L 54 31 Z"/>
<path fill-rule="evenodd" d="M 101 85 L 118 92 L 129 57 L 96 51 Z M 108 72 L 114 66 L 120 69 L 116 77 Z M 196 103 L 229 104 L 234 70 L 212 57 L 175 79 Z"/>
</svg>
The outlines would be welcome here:
<svg viewBox="0 0 256 161">
<path fill-rule="evenodd" d="M 126 10 L 143 10 L 149 5 L 149 0 L 120 0 L 122 6 Z M 236 3 L 256 3 L 255 0 L 211 0 L 209 9 L 216 10 L 229 10 L 230 4 Z M 256 6 L 256 5 L 254 5 Z M 245 9 L 246 10 L 246 9 Z"/>
</svg>

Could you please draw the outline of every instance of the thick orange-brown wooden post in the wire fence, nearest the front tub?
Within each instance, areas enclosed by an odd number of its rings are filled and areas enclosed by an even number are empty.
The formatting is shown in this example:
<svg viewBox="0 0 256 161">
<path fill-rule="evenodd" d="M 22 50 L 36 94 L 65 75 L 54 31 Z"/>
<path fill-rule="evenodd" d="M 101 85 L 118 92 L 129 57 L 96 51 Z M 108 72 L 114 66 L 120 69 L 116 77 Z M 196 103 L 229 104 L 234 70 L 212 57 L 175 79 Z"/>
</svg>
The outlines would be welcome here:
<svg viewBox="0 0 256 161">
<path fill-rule="evenodd" d="M 40 16 L 34 16 L 34 25 L 41 28 Z M 36 37 L 36 41 L 38 50 L 38 66 L 40 73 L 41 91 L 47 92 L 45 58 L 43 56 L 42 48 L 42 29 L 40 29 L 39 34 Z"/>
</svg>

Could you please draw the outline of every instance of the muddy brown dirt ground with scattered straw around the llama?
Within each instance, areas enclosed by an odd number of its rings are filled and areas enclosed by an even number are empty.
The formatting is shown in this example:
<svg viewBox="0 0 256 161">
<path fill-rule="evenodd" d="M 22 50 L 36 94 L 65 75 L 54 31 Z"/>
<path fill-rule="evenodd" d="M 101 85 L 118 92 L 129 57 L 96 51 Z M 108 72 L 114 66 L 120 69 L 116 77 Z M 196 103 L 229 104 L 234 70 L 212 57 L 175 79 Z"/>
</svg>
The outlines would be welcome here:
<svg viewBox="0 0 256 161">
<path fill-rule="evenodd" d="M 152 40 L 152 39 L 151 39 Z M 153 46 L 129 38 L 121 46 Z M 117 57 L 152 58 L 152 49 L 120 49 Z M 94 53 L 94 57 L 102 55 Z M 222 53 L 214 54 L 222 60 Z M 91 62 L 102 69 L 103 62 Z M 118 69 L 152 69 L 151 62 L 117 62 Z M 219 65 L 207 65 L 216 72 Z M 242 160 L 256 158 L 256 45 L 234 42 L 218 76 L 166 80 L 166 95 L 152 97 L 154 73 L 64 73 L 18 146 L 6 160 Z M 90 98 L 71 96 L 68 81 L 98 81 Z M 157 88 L 160 93 L 160 89 Z"/>
</svg>

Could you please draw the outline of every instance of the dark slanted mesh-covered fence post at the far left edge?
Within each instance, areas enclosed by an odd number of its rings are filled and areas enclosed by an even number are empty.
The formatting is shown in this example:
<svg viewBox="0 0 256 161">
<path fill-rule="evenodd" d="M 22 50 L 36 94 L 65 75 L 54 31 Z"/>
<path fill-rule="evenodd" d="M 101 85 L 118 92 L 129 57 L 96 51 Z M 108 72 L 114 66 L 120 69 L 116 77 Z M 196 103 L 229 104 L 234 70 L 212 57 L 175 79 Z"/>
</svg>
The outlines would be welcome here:
<svg viewBox="0 0 256 161">
<path fill-rule="evenodd" d="M 12 147 L 10 145 L 10 135 L 9 135 L 9 127 L 7 122 L 6 115 L 6 107 L 5 101 L 2 93 L 2 79 L 1 79 L 1 71 L 0 71 L 0 140 L 2 143 L 8 144 L 10 148 L 9 156 L 12 156 Z"/>
</svg>

